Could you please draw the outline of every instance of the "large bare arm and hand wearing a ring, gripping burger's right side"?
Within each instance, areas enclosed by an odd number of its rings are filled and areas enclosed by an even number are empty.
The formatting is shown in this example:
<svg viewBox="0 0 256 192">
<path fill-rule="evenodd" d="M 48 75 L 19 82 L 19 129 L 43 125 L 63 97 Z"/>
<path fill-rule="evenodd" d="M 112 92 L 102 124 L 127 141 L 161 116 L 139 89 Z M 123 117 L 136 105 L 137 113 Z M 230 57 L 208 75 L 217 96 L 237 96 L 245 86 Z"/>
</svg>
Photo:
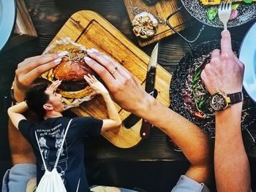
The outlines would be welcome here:
<svg viewBox="0 0 256 192">
<path fill-rule="evenodd" d="M 186 175 L 198 183 L 209 183 L 213 151 L 210 139 L 203 131 L 181 115 L 148 95 L 127 69 L 113 58 L 97 50 L 88 52 L 88 64 L 104 80 L 116 103 L 164 131 L 181 148 L 191 163 Z M 113 69 L 116 69 L 113 72 Z"/>
</svg>

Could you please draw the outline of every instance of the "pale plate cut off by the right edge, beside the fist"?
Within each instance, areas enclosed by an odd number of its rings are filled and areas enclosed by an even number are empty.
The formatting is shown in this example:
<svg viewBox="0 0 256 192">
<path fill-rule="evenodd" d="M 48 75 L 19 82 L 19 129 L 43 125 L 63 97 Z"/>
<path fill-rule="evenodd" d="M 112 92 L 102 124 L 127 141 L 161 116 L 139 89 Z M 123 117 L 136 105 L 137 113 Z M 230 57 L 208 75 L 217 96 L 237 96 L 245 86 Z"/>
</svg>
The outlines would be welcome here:
<svg viewBox="0 0 256 192">
<path fill-rule="evenodd" d="M 242 42 L 239 59 L 244 63 L 244 88 L 256 102 L 256 23 L 249 29 Z"/>
</svg>

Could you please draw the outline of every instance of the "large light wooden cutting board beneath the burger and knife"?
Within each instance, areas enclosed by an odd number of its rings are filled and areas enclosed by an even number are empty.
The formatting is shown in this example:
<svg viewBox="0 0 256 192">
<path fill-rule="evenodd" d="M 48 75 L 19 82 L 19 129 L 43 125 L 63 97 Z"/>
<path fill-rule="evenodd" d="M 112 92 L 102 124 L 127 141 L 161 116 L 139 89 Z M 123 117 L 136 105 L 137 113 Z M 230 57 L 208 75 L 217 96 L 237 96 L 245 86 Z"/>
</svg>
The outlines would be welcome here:
<svg viewBox="0 0 256 192">
<path fill-rule="evenodd" d="M 132 44 L 132 42 L 129 42 L 129 39 L 124 37 L 118 29 L 96 12 L 88 10 L 76 12 L 67 20 L 67 23 L 64 24 L 53 41 L 50 42 L 50 45 L 64 37 L 70 37 L 72 41 L 78 42 L 86 48 L 94 47 L 115 58 L 116 61 L 128 69 L 138 82 L 144 86 L 149 61 L 148 55 Z M 170 79 L 171 75 L 158 65 L 156 88 L 159 93 L 157 99 L 167 107 L 170 105 Z M 121 120 L 124 120 L 130 114 L 121 109 L 117 104 L 116 109 L 118 110 Z M 96 96 L 91 101 L 84 102 L 80 104 L 79 107 L 72 108 L 71 110 L 79 116 L 92 116 L 100 119 L 108 118 L 108 110 L 101 96 Z M 115 129 L 105 132 L 102 135 L 117 147 L 133 147 L 138 145 L 141 140 L 141 123 L 142 120 L 129 129 L 124 128 L 122 125 L 120 131 Z"/>
</svg>

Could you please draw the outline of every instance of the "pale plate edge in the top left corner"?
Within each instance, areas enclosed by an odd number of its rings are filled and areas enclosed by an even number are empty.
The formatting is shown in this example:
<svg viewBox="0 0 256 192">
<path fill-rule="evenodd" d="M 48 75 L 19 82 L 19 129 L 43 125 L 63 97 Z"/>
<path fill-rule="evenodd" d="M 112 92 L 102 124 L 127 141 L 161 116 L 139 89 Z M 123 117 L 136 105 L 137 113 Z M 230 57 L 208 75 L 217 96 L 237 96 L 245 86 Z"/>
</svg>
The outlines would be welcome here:
<svg viewBox="0 0 256 192">
<path fill-rule="evenodd" d="M 15 0 L 0 0 L 0 51 L 12 34 L 15 18 Z"/>
</svg>

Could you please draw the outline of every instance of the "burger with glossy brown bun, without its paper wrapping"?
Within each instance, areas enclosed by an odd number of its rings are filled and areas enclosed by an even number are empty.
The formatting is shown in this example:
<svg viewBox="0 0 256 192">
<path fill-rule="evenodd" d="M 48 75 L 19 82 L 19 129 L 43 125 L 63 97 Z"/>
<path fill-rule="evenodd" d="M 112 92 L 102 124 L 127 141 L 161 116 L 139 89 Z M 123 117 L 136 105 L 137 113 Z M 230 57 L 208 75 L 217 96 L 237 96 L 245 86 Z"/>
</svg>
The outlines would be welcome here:
<svg viewBox="0 0 256 192">
<path fill-rule="evenodd" d="M 95 75 L 85 63 L 85 50 L 75 50 L 67 53 L 61 63 L 53 69 L 53 80 L 61 80 L 59 93 L 67 99 L 80 99 L 91 93 L 91 88 L 84 75 Z"/>
</svg>

